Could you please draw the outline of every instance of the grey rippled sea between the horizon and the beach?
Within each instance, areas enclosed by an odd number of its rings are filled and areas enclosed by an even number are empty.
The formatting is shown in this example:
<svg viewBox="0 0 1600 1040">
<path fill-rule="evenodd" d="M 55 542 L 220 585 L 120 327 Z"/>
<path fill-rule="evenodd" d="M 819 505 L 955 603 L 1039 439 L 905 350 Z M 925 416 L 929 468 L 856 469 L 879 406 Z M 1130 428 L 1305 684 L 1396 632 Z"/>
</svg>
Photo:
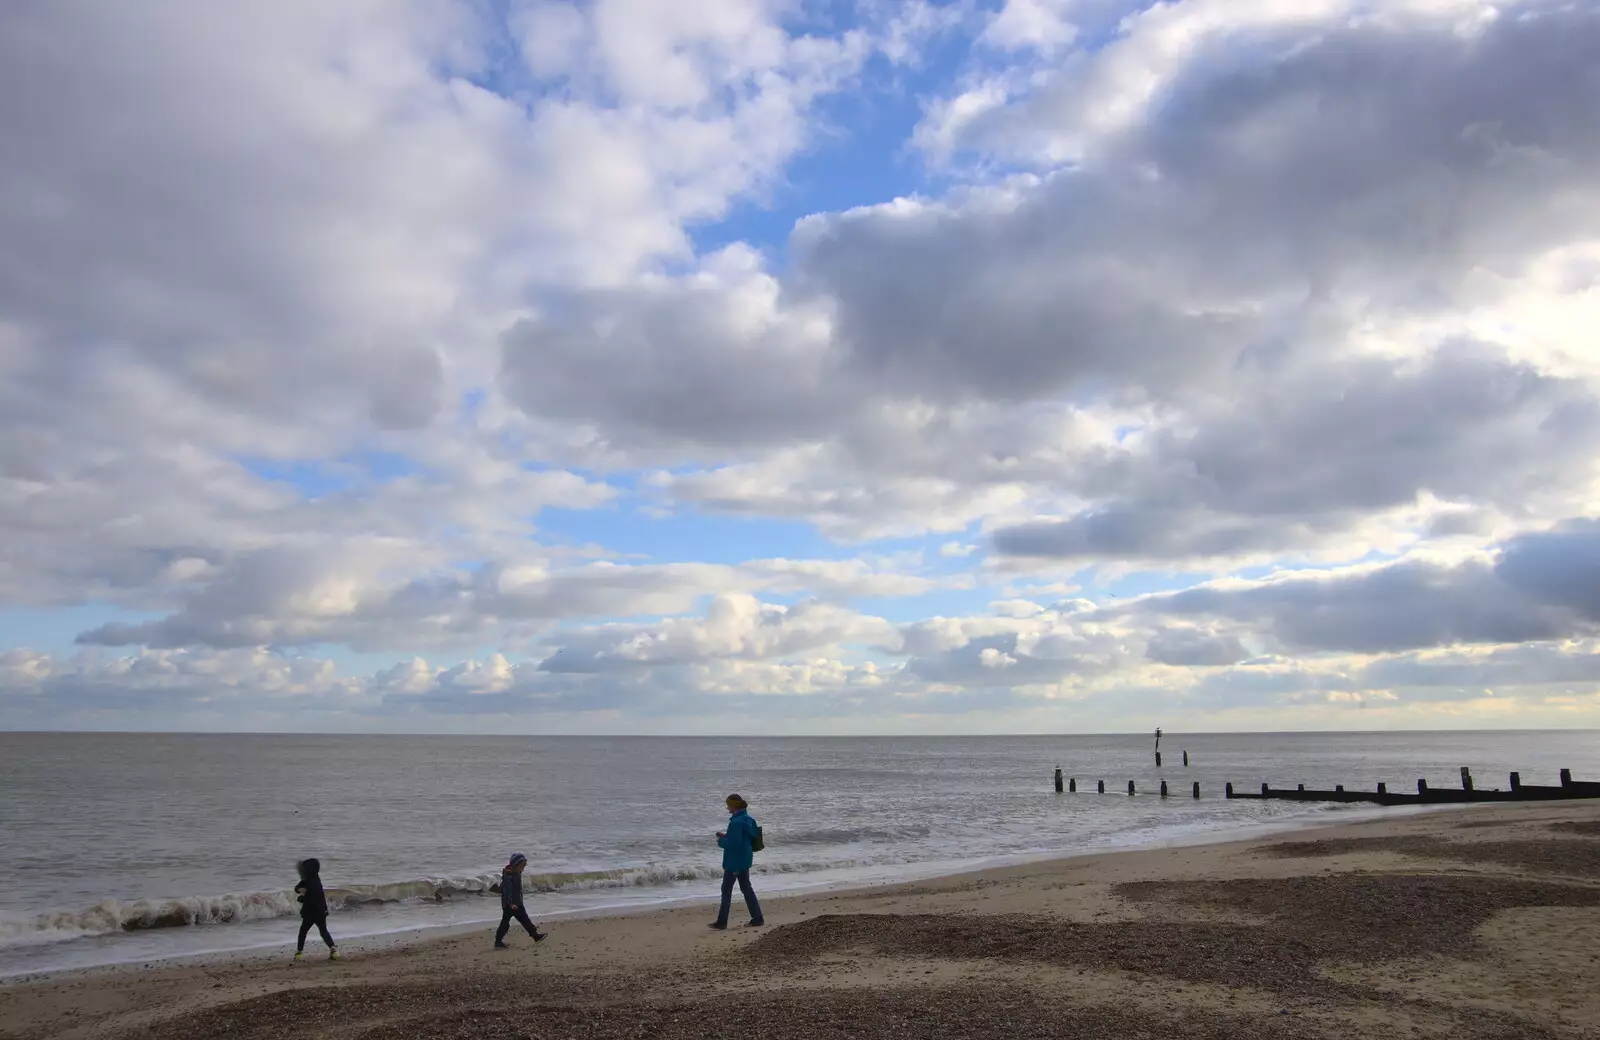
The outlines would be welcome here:
<svg viewBox="0 0 1600 1040">
<path fill-rule="evenodd" d="M 1226 782 L 1414 790 L 1459 786 L 1464 765 L 1478 787 L 1506 787 L 1512 770 L 1528 784 L 1562 768 L 1600 779 L 1592 731 L 1166 733 L 1162 752 L 1157 768 L 1154 734 L 0 733 L 0 978 L 288 950 L 306 856 L 322 859 L 339 941 L 488 930 L 517 851 L 528 909 L 552 928 L 712 902 L 731 792 L 763 827 L 755 886 L 778 894 L 1408 811 L 1230 802 Z M 1058 765 L 1078 794 L 1054 792 Z M 1173 797 L 1157 795 L 1162 779 Z"/>
</svg>

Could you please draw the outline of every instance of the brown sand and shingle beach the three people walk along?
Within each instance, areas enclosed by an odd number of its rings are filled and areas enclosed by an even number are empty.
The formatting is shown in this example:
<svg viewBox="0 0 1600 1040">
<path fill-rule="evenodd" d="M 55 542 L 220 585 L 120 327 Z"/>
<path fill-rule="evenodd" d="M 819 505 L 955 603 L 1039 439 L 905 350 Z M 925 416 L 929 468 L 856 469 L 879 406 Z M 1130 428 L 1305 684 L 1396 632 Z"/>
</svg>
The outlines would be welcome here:
<svg viewBox="0 0 1600 1040">
<path fill-rule="evenodd" d="M 763 930 L 707 917 L 13 982 L 0 1037 L 1600 1040 L 1600 803 L 774 898 Z"/>
</svg>

